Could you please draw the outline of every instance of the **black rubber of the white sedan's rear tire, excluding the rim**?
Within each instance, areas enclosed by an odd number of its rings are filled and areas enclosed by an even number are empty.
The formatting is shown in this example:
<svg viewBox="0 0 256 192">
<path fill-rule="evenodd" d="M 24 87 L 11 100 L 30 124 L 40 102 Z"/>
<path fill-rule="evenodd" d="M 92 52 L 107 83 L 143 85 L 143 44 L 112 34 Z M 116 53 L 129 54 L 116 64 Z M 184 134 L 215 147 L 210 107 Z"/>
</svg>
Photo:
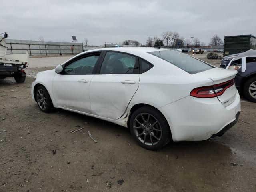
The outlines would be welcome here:
<svg viewBox="0 0 256 192">
<path fill-rule="evenodd" d="M 162 138 L 161 140 L 158 142 L 158 144 L 153 145 L 153 146 L 148 146 L 143 144 L 135 135 L 134 129 L 133 129 L 133 122 L 135 117 L 140 114 L 140 113 L 148 113 L 153 115 L 158 122 L 160 123 L 160 126 L 162 128 Z M 134 137 L 134 139 L 136 140 L 136 142 L 142 146 L 143 148 L 146 148 L 148 150 L 158 150 L 162 147 L 164 147 L 166 144 L 168 144 L 168 142 L 170 141 L 170 128 L 168 125 L 167 120 L 164 118 L 164 116 L 156 109 L 152 108 L 152 107 L 141 107 L 138 108 L 136 111 L 134 111 L 130 117 L 129 120 L 129 128 L 130 128 L 130 132 L 132 134 L 132 136 Z"/>
</svg>

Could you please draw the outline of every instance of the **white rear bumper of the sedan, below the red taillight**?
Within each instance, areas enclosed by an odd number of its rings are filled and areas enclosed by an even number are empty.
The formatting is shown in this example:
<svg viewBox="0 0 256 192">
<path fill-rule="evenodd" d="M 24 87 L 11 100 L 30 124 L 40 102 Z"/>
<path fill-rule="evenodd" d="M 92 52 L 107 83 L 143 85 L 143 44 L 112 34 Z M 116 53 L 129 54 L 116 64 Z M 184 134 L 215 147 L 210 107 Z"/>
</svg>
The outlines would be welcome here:
<svg viewBox="0 0 256 192">
<path fill-rule="evenodd" d="M 207 140 L 236 120 L 241 110 L 240 96 L 237 92 L 226 107 L 218 98 L 187 96 L 158 110 L 169 123 L 173 141 Z"/>
</svg>

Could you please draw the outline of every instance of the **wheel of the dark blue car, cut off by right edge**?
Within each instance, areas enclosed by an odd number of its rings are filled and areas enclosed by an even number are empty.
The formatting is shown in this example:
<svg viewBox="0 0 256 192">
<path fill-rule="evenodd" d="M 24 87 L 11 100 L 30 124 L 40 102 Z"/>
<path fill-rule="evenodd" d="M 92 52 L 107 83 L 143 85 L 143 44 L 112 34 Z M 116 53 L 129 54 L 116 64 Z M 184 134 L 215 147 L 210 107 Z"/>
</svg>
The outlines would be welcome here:
<svg viewBox="0 0 256 192">
<path fill-rule="evenodd" d="M 250 89 L 251 88 L 251 89 Z M 251 102 L 256 103 L 256 76 L 247 80 L 244 84 L 244 96 Z"/>
</svg>

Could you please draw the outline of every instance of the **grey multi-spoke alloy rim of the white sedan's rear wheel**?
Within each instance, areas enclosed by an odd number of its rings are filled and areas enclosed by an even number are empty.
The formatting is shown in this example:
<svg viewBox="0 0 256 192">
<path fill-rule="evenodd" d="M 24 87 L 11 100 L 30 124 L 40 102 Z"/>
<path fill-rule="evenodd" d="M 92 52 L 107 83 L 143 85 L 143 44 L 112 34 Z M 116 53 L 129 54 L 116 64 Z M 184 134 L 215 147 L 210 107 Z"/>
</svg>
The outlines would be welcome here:
<svg viewBox="0 0 256 192">
<path fill-rule="evenodd" d="M 136 137 L 148 146 L 158 144 L 162 138 L 162 128 L 158 120 L 151 114 L 140 113 L 133 122 Z"/>
</svg>

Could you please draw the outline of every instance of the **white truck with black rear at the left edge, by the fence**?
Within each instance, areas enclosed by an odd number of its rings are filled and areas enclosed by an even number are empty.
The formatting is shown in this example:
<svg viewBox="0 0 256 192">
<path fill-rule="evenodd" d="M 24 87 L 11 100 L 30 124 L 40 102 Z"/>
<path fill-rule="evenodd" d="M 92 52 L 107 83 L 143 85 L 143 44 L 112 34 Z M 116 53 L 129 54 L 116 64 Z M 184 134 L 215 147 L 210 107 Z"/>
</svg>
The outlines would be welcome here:
<svg viewBox="0 0 256 192">
<path fill-rule="evenodd" d="M 26 54 L 6 54 L 7 46 L 5 39 L 8 37 L 6 32 L 0 36 L 0 79 L 14 77 L 16 82 L 22 83 L 26 79 L 26 68 L 28 68 L 28 55 Z M 0 34 L 0 35 L 2 35 Z"/>
</svg>

